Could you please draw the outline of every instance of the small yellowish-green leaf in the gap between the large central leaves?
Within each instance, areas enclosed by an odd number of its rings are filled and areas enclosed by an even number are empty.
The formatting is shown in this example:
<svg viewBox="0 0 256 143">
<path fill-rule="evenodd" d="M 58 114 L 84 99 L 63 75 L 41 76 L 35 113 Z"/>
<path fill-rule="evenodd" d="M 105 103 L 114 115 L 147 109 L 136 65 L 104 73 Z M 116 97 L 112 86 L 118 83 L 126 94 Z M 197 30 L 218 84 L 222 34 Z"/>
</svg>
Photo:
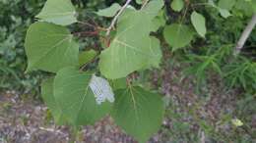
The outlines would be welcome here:
<svg viewBox="0 0 256 143">
<path fill-rule="evenodd" d="M 97 53 L 95 50 L 81 52 L 79 54 L 79 67 L 91 62 L 96 57 L 96 55 Z"/>
</svg>

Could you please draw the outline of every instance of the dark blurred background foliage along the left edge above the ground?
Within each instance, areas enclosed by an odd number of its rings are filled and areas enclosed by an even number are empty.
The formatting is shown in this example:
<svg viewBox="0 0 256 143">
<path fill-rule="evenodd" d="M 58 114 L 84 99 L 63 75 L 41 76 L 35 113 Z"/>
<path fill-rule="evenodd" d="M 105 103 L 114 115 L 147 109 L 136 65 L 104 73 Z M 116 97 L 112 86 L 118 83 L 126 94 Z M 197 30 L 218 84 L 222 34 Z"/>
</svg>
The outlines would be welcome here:
<svg viewBox="0 0 256 143">
<path fill-rule="evenodd" d="M 24 40 L 43 0 L 0 1 L 0 89 L 36 91 L 40 74 L 25 74 Z"/>
</svg>

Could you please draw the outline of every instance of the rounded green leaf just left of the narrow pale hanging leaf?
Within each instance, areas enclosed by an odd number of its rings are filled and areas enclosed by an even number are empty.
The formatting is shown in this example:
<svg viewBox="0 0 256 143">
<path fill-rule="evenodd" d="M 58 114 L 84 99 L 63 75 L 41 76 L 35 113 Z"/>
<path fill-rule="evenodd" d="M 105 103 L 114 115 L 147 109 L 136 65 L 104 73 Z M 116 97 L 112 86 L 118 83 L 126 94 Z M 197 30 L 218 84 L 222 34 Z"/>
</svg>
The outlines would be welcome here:
<svg viewBox="0 0 256 143">
<path fill-rule="evenodd" d="M 185 47 L 193 39 L 192 30 L 184 24 L 170 24 L 165 26 L 163 36 L 166 42 L 173 47 L 172 51 Z"/>
</svg>

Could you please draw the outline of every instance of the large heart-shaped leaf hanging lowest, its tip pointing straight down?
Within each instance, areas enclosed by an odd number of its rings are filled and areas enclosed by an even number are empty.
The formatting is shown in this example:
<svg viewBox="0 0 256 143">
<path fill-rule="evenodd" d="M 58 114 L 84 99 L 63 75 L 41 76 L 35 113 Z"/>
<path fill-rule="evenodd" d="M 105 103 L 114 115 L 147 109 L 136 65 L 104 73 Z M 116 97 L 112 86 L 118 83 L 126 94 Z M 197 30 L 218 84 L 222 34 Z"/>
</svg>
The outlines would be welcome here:
<svg viewBox="0 0 256 143">
<path fill-rule="evenodd" d="M 115 92 L 111 116 L 125 132 L 139 142 L 146 142 L 161 125 L 164 108 L 160 95 L 141 87 L 120 89 Z"/>
</svg>

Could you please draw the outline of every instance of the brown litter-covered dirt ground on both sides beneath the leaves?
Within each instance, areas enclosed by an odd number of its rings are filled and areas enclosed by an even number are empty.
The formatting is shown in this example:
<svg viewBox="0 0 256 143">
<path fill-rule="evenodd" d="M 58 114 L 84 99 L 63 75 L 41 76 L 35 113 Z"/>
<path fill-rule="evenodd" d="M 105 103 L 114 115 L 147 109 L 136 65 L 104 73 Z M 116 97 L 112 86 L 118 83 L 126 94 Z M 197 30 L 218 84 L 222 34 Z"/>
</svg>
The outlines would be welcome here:
<svg viewBox="0 0 256 143">
<path fill-rule="evenodd" d="M 223 132 L 228 133 L 232 129 L 231 124 L 222 121 L 222 118 L 224 115 L 233 114 L 235 95 L 239 92 L 225 91 L 222 88 L 223 83 L 218 78 L 213 78 L 216 81 L 209 85 L 211 88 L 207 95 L 197 95 L 194 92 L 193 80 L 184 79 L 179 82 L 177 80 L 181 76 L 180 69 L 165 67 L 161 71 L 153 71 L 150 79 L 153 88 L 160 90 L 164 95 L 167 110 L 159 133 L 152 137 L 149 143 L 193 143 L 185 139 L 187 134 L 196 134 L 201 143 L 211 143 L 213 137 L 207 136 L 199 127 L 198 122 L 202 120 L 211 124 L 213 130 L 219 133 L 213 133 L 213 136 L 221 138 L 223 135 L 224 138 L 228 138 Z M 174 114 L 170 114 L 169 111 Z M 183 129 L 177 128 L 177 122 L 188 126 Z M 14 91 L 0 93 L 0 143 L 68 143 L 70 137 L 70 128 L 55 126 L 47 108 L 40 100 Z M 85 126 L 80 131 L 77 142 L 136 143 L 110 118 L 102 119 L 94 126 Z"/>
</svg>

